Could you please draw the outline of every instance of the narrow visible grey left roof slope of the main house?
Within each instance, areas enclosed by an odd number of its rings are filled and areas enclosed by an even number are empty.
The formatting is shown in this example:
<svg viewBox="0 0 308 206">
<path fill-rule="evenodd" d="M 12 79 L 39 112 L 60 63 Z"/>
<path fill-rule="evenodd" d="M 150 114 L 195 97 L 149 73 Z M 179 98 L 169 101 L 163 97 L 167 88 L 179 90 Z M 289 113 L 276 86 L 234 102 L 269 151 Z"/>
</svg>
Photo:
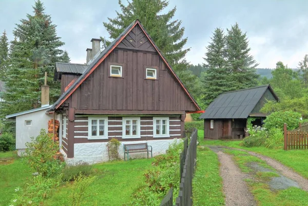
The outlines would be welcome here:
<svg viewBox="0 0 308 206">
<path fill-rule="evenodd" d="M 82 75 L 74 82 L 72 86 L 70 86 L 61 96 L 59 99 L 54 102 L 52 107 L 48 111 L 52 111 L 56 108 L 57 105 L 70 93 L 70 91 L 90 72 L 90 70 L 94 67 L 94 65 L 97 64 L 97 62 L 108 53 L 108 51 L 115 45 L 115 43 L 118 42 L 118 40 L 134 25 L 136 21 L 133 21 L 116 39 L 113 40 L 113 42 L 106 47 L 101 54 L 92 61 L 92 63 L 86 68 L 86 70 L 82 73 Z"/>
</svg>

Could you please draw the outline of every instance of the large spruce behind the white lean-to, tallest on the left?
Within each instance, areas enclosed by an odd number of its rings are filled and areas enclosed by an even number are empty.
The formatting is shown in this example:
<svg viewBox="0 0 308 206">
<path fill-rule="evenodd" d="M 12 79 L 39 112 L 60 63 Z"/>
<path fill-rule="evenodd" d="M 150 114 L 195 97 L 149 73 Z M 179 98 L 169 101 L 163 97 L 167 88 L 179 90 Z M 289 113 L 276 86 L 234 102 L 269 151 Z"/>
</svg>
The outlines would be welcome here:
<svg viewBox="0 0 308 206">
<path fill-rule="evenodd" d="M 4 114 L 21 112 L 40 106 L 41 86 L 44 73 L 48 72 L 50 102 L 60 95 L 60 84 L 53 81 L 56 61 L 61 59 L 63 46 L 56 35 L 56 25 L 50 15 L 45 14 L 40 0 L 33 6 L 34 15 L 27 14 L 13 31 L 15 40 L 11 42 L 10 66 L 5 79 L 6 92 L 3 94 Z"/>
</svg>

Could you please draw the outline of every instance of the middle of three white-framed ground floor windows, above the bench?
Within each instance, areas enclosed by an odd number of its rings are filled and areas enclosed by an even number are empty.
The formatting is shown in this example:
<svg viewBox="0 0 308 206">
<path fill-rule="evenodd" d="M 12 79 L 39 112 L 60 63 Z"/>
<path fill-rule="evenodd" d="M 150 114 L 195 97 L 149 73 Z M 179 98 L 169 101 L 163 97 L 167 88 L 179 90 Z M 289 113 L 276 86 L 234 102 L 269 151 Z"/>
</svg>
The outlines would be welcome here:
<svg viewBox="0 0 308 206">
<path fill-rule="evenodd" d="M 140 138 L 140 117 L 123 117 L 123 138 Z"/>
</svg>

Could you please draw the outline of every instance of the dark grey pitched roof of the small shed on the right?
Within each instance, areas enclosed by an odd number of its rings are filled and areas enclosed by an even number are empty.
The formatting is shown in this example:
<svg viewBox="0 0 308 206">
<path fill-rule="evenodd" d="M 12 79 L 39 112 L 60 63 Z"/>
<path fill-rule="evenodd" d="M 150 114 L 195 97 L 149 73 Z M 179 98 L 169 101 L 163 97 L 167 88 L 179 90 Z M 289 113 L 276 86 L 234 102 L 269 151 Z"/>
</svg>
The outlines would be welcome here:
<svg viewBox="0 0 308 206">
<path fill-rule="evenodd" d="M 225 92 L 211 102 L 200 119 L 247 118 L 267 89 L 278 100 L 269 85 Z"/>
</svg>

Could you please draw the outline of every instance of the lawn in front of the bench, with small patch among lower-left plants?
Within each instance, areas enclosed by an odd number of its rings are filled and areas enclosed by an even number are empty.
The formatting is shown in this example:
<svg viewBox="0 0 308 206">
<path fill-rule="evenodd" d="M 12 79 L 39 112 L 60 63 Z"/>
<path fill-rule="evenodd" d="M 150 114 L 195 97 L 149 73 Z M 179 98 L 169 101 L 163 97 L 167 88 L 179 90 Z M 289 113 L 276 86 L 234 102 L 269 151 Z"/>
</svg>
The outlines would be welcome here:
<svg viewBox="0 0 308 206">
<path fill-rule="evenodd" d="M 150 168 L 153 159 L 113 161 L 95 164 L 97 179 L 89 187 L 85 205 L 125 205 L 138 183 L 144 181 L 143 173 Z M 44 205 L 68 205 L 71 184 L 57 188 Z"/>
</svg>

